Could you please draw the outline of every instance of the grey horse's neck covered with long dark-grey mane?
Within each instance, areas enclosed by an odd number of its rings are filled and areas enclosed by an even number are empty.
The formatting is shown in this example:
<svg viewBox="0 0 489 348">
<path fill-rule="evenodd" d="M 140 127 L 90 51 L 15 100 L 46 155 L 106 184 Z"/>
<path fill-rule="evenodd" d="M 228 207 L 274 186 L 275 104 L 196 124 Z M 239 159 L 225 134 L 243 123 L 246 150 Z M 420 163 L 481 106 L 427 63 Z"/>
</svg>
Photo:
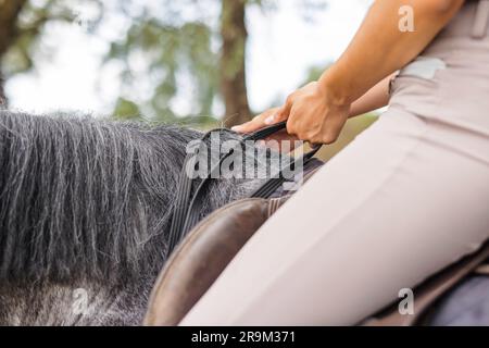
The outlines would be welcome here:
<svg viewBox="0 0 489 348">
<path fill-rule="evenodd" d="M 0 111 L 0 324 L 139 324 L 200 136 Z M 202 214 L 259 184 L 216 181 Z"/>
</svg>

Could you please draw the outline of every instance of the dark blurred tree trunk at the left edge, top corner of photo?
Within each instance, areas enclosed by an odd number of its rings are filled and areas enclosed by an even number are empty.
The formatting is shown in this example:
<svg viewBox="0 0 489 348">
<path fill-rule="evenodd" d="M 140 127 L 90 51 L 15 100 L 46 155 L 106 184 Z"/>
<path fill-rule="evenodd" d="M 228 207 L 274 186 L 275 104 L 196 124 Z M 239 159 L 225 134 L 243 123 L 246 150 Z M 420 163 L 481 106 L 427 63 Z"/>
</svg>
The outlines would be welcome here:
<svg viewBox="0 0 489 348">
<path fill-rule="evenodd" d="M 27 0 L 0 0 L 0 59 L 15 41 L 17 17 Z M 0 70 L 0 107 L 5 102 Z"/>
</svg>

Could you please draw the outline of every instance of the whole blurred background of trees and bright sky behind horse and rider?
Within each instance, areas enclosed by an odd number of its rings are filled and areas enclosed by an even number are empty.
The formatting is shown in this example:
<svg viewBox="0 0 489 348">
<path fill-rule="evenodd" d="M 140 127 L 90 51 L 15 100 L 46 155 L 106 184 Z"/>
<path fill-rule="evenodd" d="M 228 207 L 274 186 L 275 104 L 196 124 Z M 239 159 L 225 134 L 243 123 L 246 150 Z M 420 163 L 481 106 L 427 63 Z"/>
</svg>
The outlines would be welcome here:
<svg viewBox="0 0 489 348">
<path fill-rule="evenodd" d="M 0 94 L 34 113 L 231 126 L 348 46 L 369 0 L 0 0 Z M 349 121 L 322 157 L 375 122 Z"/>
</svg>

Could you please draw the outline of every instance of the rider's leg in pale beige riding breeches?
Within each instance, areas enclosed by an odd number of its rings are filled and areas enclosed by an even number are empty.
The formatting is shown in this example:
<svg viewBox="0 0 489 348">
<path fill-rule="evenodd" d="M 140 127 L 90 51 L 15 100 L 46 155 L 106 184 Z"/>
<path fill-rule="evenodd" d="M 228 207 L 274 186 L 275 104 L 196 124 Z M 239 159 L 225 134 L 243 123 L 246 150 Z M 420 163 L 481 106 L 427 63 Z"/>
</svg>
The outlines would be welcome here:
<svg viewBox="0 0 489 348">
<path fill-rule="evenodd" d="M 489 236 L 489 139 L 401 110 L 325 165 L 184 325 L 354 324 Z"/>
</svg>

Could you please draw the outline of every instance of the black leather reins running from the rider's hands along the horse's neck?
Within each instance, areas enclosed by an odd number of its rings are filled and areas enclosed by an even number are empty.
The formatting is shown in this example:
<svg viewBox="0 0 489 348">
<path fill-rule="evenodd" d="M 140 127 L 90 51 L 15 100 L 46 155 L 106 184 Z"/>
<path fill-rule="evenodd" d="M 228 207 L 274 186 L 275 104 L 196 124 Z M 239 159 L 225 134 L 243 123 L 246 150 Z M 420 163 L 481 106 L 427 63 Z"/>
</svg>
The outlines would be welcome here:
<svg viewBox="0 0 489 348">
<path fill-rule="evenodd" d="M 243 141 L 246 140 L 260 140 L 264 139 L 279 130 L 286 128 L 287 122 L 280 122 L 274 124 L 272 126 L 259 129 L 254 133 L 251 133 L 243 137 Z M 220 132 L 222 128 L 212 129 L 205 133 L 200 141 L 204 141 L 213 132 Z M 242 144 L 242 142 L 241 142 Z M 262 186 L 260 186 L 256 190 L 254 190 L 249 198 L 269 198 L 273 192 L 280 187 L 286 182 L 284 177 L 284 172 L 286 170 L 293 169 L 297 164 L 303 162 L 306 164 L 313 156 L 319 150 L 321 146 L 316 146 L 310 152 L 303 154 L 297 160 L 292 161 L 290 164 L 280 169 L 277 177 L 272 177 L 267 179 Z M 178 186 L 175 199 L 174 211 L 172 215 L 172 225 L 170 229 L 170 241 L 168 241 L 168 254 L 176 248 L 176 246 L 180 243 L 180 240 L 185 237 L 187 232 L 189 232 L 197 223 L 199 222 L 199 210 L 198 202 L 204 198 L 203 189 L 209 185 L 210 181 L 214 177 L 213 174 L 216 171 L 220 171 L 221 165 L 225 159 L 234 153 L 234 149 L 230 149 L 227 153 L 225 153 L 218 161 L 216 165 L 214 165 L 205 175 L 205 177 L 201 181 L 199 186 L 197 187 L 195 194 L 191 196 L 192 184 L 197 178 L 190 178 L 187 175 L 187 165 L 191 165 L 191 167 L 196 167 L 196 157 L 192 153 L 188 153 L 185 158 L 184 165 L 181 167 L 179 177 L 178 177 Z"/>
</svg>

